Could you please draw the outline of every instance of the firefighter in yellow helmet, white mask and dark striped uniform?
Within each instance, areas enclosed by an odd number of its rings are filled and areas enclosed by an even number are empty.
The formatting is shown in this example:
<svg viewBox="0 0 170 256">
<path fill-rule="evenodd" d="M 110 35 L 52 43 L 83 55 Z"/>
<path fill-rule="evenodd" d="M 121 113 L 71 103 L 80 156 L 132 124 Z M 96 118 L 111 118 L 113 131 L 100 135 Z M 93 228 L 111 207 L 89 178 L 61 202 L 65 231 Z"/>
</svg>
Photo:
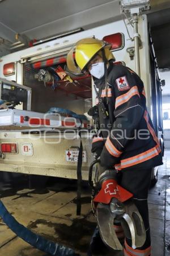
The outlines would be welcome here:
<svg viewBox="0 0 170 256">
<path fill-rule="evenodd" d="M 124 255 L 150 255 L 148 188 L 152 168 L 163 163 L 159 140 L 146 108 L 143 82 L 130 68 L 114 64 L 111 45 L 103 40 L 79 40 L 74 51 L 75 59 L 73 51 L 67 55 L 67 66 L 74 73 L 92 75 L 104 104 L 104 109 L 99 108 L 100 133 L 93 139 L 92 152 L 100 157 L 105 170 L 117 170 L 119 184 L 133 193 L 145 225 L 143 246 L 133 249 L 131 239 L 126 238 Z M 116 228 L 122 232 L 121 226 Z"/>
</svg>

